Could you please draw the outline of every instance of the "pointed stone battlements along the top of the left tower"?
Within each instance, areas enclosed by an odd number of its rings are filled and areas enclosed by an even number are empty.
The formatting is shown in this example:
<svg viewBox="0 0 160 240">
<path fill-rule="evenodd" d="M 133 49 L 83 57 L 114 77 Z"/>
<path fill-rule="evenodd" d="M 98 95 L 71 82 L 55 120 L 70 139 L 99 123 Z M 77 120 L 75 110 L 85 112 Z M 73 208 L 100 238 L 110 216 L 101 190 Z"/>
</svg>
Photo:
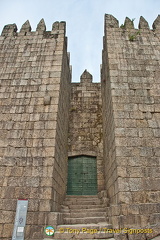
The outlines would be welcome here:
<svg viewBox="0 0 160 240">
<path fill-rule="evenodd" d="M 40 22 L 37 24 L 36 31 L 31 31 L 31 25 L 29 20 L 27 20 L 21 27 L 20 31 L 18 31 L 17 25 L 14 24 L 8 24 L 5 25 L 1 36 L 3 37 L 11 37 L 11 36 L 26 36 L 26 35 L 54 35 L 54 34 L 63 34 L 65 36 L 66 32 L 66 23 L 65 22 L 54 22 L 52 25 L 51 31 L 46 31 L 46 24 L 44 19 L 42 18 Z"/>
</svg>

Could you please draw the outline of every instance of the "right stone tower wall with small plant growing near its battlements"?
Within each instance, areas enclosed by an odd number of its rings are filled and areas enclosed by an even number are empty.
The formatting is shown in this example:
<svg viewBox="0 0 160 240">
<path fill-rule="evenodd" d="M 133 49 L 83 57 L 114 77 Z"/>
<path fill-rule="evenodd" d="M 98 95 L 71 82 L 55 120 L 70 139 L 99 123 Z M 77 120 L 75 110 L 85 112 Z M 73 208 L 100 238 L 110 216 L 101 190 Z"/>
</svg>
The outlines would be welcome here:
<svg viewBox="0 0 160 240">
<path fill-rule="evenodd" d="M 106 189 L 114 227 L 160 221 L 160 16 L 149 29 L 105 15 L 102 65 Z"/>
</svg>

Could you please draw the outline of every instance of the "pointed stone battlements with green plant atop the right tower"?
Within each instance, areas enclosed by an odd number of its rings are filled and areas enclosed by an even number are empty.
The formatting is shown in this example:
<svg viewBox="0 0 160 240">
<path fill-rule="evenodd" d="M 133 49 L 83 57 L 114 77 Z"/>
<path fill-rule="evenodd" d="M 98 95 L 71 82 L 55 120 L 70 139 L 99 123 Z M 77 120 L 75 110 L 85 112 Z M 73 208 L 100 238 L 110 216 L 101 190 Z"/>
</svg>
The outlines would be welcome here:
<svg viewBox="0 0 160 240">
<path fill-rule="evenodd" d="M 112 16 L 110 14 L 105 14 L 105 28 L 122 28 L 124 30 L 135 29 L 134 19 L 131 20 L 130 18 L 126 17 L 124 24 L 119 26 L 119 21 L 114 16 Z M 139 19 L 138 28 L 139 29 L 150 29 L 148 22 L 142 16 Z M 160 15 L 158 15 L 158 17 L 153 22 L 152 28 L 153 29 L 151 29 L 151 30 L 154 30 L 154 31 L 160 30 Z"/>
</svg>

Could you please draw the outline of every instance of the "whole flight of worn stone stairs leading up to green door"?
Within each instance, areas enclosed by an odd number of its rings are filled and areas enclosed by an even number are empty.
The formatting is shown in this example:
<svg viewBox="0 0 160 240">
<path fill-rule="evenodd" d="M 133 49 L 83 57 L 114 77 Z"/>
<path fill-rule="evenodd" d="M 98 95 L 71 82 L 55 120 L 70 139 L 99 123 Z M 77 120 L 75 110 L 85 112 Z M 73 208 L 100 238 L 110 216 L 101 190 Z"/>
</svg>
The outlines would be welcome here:
<svg viewBox="0 0 160 240">
<path fill-rule="evenodd" d="M 54 239 L 110 239 L 106 210 L 97 196 L 67 196 L 62 206 L 63 225 L 57 226 Z"/>
</svg>

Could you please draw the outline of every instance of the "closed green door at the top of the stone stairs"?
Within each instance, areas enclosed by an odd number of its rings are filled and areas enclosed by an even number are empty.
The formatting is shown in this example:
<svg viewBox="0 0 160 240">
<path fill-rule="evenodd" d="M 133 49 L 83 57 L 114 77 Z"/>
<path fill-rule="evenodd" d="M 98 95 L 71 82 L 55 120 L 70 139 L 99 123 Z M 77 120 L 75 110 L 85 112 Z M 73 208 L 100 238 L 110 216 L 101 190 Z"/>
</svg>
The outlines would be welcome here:
<svg viewBox="0 0 160 240">
<path fill-rule="evenodd" d="M 68 160 L 68 195 L 97 194 L 96 158 L 88 156 L 71 157 Z"/>
</svg>

